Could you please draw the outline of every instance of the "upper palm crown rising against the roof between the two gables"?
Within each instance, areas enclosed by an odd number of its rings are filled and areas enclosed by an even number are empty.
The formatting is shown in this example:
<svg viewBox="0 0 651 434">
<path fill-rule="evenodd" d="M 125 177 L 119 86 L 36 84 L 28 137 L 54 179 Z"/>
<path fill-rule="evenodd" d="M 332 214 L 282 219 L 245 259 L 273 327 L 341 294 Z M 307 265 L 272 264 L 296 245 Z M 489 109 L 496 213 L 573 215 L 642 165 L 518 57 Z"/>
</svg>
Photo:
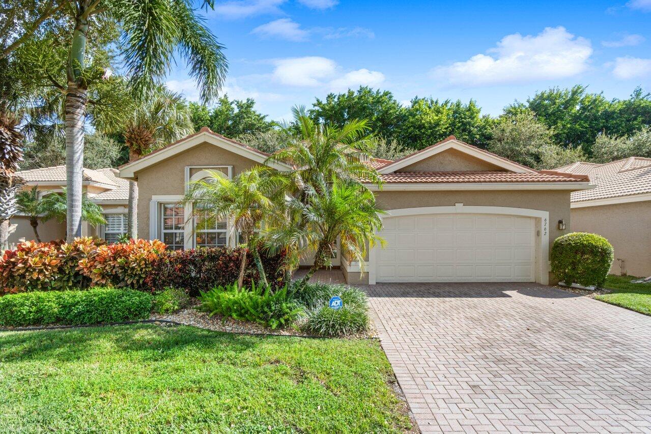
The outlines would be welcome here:
<svg viewBox="0 0 651 434">
<path fill-rule="evenodd" d="M 296 167 L 283 172 L 293 180 L 294 193 L 307 191 L 310 186 L 319 191 L 337 179 L 380 183 L 378 172 L 366 163 L 375 144 L 373 135 L 368 134 L 367 120 L 352 120 L 337 128 L 314 122 L 305 107 L 293 107 L 292 113 L 294 123 L 283 126 L 288 142 L 268 160 Z M 302 193 L 299 196 L 305 198 Z"/>
</svg>

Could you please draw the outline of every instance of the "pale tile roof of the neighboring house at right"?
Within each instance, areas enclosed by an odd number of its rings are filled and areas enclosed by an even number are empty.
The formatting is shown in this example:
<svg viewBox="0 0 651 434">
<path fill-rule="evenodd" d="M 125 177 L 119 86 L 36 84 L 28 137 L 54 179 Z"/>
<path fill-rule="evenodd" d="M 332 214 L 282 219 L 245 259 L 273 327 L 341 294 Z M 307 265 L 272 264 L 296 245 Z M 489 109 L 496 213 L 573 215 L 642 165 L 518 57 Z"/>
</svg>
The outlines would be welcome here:
<svg viewBox="0 0 651 434">
<path fill-rule="evenodd" d="M 575 191 L 572 202 L 651 193 L 651 158 L 629 157 L 605 164 L 579 161 L 556 170 L 587 174 L 590 184 L 596 186 L 590 190 Z"/>
</svg>

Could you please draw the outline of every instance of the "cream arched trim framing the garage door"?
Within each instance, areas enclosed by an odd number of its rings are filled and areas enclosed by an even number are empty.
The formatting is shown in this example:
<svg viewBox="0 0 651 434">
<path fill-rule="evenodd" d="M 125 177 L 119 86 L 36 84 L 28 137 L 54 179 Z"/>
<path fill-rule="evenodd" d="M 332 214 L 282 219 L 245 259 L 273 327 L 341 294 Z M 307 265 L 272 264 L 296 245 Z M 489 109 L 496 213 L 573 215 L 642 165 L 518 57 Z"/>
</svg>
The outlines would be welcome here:
<svg viewBox="0 0 651 434">
<path fill-rule="evenodd" d="M 530 210 L 528 208 L 510 208 L 508 206 L 424 206 L 421 208 L 401 208 L 400 210 L 387 210 L 388 217 L 419 214 L 501 214 L 517 215 L 520 217 L 536 218 L 536 282 L 549 284 L 549 212 Z M 376 284 L 376 257 L 379 245 L 368 251 L 368 284 Z"/>
</svg>

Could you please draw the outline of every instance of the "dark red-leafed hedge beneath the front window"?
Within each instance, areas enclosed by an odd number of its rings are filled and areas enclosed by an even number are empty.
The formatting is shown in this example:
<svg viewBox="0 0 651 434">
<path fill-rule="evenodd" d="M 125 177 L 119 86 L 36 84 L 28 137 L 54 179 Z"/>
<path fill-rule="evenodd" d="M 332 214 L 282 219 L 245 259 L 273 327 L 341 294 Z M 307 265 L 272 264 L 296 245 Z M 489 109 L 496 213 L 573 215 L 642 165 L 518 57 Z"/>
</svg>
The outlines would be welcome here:
<svg viewBox="0 0 651 434">
<path fill-rule="evenodd" d="M 165 251 L 154 262 L 146 283 L 152 291 L 173 286 L 184 289 L 189 295 L 199 295 L 199 291 L 225 286 L 238 279 L 242 251 L 242 248 L 229 247 Z M 260 252 L 260 256 L 271 286 L 283 286 L 283 256 L 268 256 L 264 252 Z M 251 280 L 258 280 L 258 272 L 251 255 L 247 255 L 244 276 L 245 285 L 251 284 Z"/>
</svg>

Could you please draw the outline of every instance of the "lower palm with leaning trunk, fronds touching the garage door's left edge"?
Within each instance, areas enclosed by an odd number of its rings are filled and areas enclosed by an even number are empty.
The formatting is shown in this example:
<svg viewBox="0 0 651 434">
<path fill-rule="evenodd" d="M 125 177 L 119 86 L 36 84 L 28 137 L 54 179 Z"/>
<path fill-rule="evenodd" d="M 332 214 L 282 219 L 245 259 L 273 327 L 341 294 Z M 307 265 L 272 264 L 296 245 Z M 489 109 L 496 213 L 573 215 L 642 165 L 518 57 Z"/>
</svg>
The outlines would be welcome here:
<svg viewBox="0 0 651 434">
<path fill-rule="evenodd" d="M 305 200 L 290 198 L 288 221 L 266 231 L 271 251 L 295 246 L 303 253 L 314 252 L 314 264 L 302 284 L 329 262 L 337 238 L 342 253 L 364 264 L 368 247 L 384 240 L 376 235 L 381 230 L 384 211 L 377 208 L 374 194 L 359 182 L 336 179 L 322 182 L 320 188 L 305 189 Z"/>
</svg>

